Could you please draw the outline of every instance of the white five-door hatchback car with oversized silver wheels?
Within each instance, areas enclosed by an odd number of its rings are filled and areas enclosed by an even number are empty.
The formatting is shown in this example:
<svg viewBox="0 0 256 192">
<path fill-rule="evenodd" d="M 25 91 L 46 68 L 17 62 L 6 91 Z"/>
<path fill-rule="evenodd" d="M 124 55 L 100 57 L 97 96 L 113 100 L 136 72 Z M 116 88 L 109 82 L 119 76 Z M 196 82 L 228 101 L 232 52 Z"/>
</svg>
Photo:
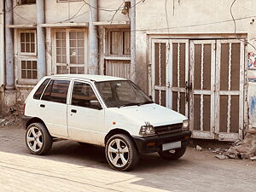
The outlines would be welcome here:
<svg viewBox="0 0 256 192">
<path fill-rule="evenodd" d="M 130 80 L 100 75 L 44 77 L 24 104 L 26 146 L 46 154 L 54 138 L 105 147 L 108 164 L 125 171 L 139 154 L 176 160 L 191 136 L 182 114 L 152 102 Z"/>
</svg>

